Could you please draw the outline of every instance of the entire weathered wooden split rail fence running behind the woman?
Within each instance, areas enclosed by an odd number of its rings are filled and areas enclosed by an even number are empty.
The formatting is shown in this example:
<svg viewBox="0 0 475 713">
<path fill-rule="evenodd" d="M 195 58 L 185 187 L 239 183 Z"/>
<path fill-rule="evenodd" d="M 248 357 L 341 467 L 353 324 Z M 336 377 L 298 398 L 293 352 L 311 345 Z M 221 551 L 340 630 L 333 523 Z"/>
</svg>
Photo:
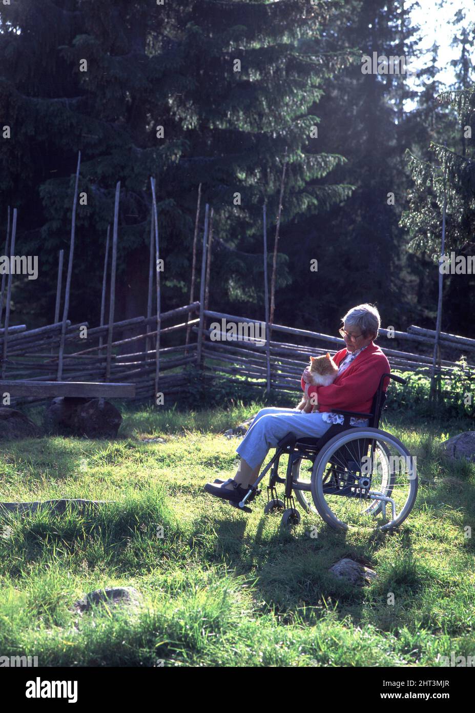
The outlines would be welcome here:
<svg viewBox="0 0 475 713">
<path fill-rule="evenodd" d="M 221 326 L 222 320 L 224 324 L 236 325 L 238 336 L 235 339 L 229 339 L 227 332 L 216 329 L 216 324 L 213 329 L 210 328 L 212 322 Z M 344 347 L 343 339 L 330 334 L 282 324 L 272 324 L 271 329 L 265 329 L 265 323 L 259 319 L 200 309 L 200 302 L 192 302 L 162 312 L 158 321 L 156 315 L 148 319 L 135 317 L 93 328 L 89 328 L 87 322 L 67 322 L 61 379 L 58 379 L 62 324 L 55 322 L 38 329 L 26 329 L 26 325 L 21 324 L 9 327 L 7 332 L 0 330 L 0 353 L 4 354 L 1 364 L 3 394 L 9 392 L 7 386 L 16 380 L 51 384 L 56 379 L 115 384 L 127 382 L 135 384 L 135 399 L 149 399 L 155 394 L 155 379 L 158 376 L 158 391 L 177 397 L 183 394 L 184 389 L 192 387 L 192 381 L 184 381 L 184 367 L 188 364 L 194 364 L 205 376 L 214 379 L 242 384 L 244 377 L 256 389 L 295 391 L 310 355 L 336 352 Z M 153 328 L 157 324 L 160 325 L 158 360 L 156 349 L 149 348 L 151 344 L 155 347 L 157 329 Z M 248 327 L 259 325 L 259 339 L 249 336 L 249 329 L 240 337 L 239 324 Z M 124 332 L 130 329 L 137 334 L 124 337 Z M 185 344 L 182 339 L 182 343 L 177 344 L 177 336 L 184 337 L 188 329 L 197 336 L 197 342 Z M 430 354 L 434 349 L 434 334 L 432 330 L 415 326 L 409 327 L 407 332 L 381 329 L 377 342 L 390 359 L 393 370 L 431 374 Z M 168 339 L 169 336 L 172 338 Z M 145 349 L 135 348 L 137 342 L 145 344 Z M 395 342 L 402 347 L 395 349 Z M 403 349 L 404 343 L 409 349 L 416 347 L 421 353 Z M 439 359 L 437 374 L 450 374 L 459 366 L 456 359 L 461 354 L 466 356 L 467 368 L 474 364 L 475 339 L 442 332 L 439 345 L 444 356 L 450 358 Z M 28 391 L 11 387 L 11 401 L 17 404 L 44 400 L 41 396 L 44 392 L 44 389 Z M 58 391 L 56 395 L 61 394 Z"/>
</svg>

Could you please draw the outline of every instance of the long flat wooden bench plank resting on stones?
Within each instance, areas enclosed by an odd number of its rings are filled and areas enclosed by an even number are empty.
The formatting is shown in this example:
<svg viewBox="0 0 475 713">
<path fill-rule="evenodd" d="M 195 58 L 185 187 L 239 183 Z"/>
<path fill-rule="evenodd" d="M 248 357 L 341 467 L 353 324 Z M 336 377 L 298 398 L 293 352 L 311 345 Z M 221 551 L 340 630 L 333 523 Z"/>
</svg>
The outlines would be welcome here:
<svg viewBox="0 0 475 713">
<path fill-rule="evenodd" d="M 11 396 L 66 396 L 84 399 L 133 399 L 135 384 L 102 384 L 97 381 L 0 381 L 2 394 Z"/>
</svg>

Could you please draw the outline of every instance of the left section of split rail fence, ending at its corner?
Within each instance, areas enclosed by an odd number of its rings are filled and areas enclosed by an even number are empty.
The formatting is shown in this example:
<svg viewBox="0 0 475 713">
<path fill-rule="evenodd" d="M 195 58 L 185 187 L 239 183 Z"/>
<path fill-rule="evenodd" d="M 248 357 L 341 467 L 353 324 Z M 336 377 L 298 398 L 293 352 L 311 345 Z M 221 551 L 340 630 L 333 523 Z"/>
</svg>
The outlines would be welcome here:
<svg viewBox="0 0 475 713">
<path fill-rule="evenodd" d="M 199 302 L 171 309 L 160 314 L 160 337 L 174 332 L 184 333 L 187 324 L 193 327 L 199 319 L 184 321 L 199 309 Z M 167 322 L 177 321 L 177 324 Z M 150 398 L 155 393 L 157 352 L 155 347 L 157 317 L 134 317 L 114 322 L 111 327 L 89 328 L 87 322 L 66 325 L 65 349 L 62 354 L 61 379 L 58 379 L 58 350 L 61 344 L 62 322 L 46 327 L 27 330 L 26 326 L 10 327 L 6 334 L 6 359 L 2 360 L 1 394 L 11 393 L 11 404 L 44 401 L 46 389 L 13 388 L 15 381 L 27 380 L 34 383 L 51 384 L 57 381 L 74 382 L 127 382 L 135 385 L 135 399 Z M 124 332 L 134 329 L 138 334 L 123 338 Z M 4 347 L 4 330 L 0 330 L 0 351 Z M 108 339 L 112 332 L 112 339 Z M 150 339 L 150 343 L 149 343 Z M 104 344 L 103 344 L 104 342 Z M 137 342 L 145 344 L 145 349 L 136 349 Z M 183 388 L 183 376 L 177 369 L 196 362 L 197 344 L 172 344 L 160 347 L 160 391 L 163 394 L 179 394 Z M 109 366 L 108 366 L 109 365 Z M 109 376 L 107 377 L 107 374 Z M 6 381 L 8 379 L 8 381 Z M 7 388 L 7 386 L 9 388 Z M 9 391 L 11 389 L 11 392 Z M 86 389 L 85 389 L 86 391 Z M 52 393 L 52 392 L 51 392 Z M 111 390 L 111 394 L 113 391 Z M 61 396 L 58 389 L 58 394 Z M 78 394 L 80 395 L 80 394 Z M 86 395 L 84 393 L 84 395 Z M 104 394 L 105 395 L 105 394 Z M 119 396 L 119 394 L 117 394 Z M 127 394 L 130 397 L 130 394 Z M 4 401 L 5 403 L 5 401 Z"/>
</svg>

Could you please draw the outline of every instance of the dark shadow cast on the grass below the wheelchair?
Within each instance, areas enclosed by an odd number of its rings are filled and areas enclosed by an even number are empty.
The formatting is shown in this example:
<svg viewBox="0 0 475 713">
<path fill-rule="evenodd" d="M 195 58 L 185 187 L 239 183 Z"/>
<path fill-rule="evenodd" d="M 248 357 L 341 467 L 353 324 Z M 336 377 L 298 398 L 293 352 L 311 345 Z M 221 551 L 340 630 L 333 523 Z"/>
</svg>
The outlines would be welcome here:
<svg viewBox="0 0 475 713">
<path fill-rule="evenodd" d="M 203 554 L 209 563 L 224 560 L 229 570 L 252 580 L 263 609 L 272 610 L 284 619 L 292 619 L 298 611 L 306 620 L 315 610 L 331 607 L 341 617 L 350 612 L 353 620 L 359 622 L 368 597 L 386 611 L 390 593 L 399 600 L 414 597 L 431 581 L 429 568 L 414 556 L 414 535 L 410 528 L 402 526 L 393 533 L 376 532 L 355 540 L 349 539 L 345 531 L 338 532 L 320 523 L 317 536 L 313 537 L 311 530 L 308 532 L 308 523 L 298 530 L 288 530 L 278 524 L 278 518 L 279 515 L 263 515 L 252 536 L 246 536 L 245 515 L 239 519 L 216 519 L 214 548 Z M 397 538 L 399 555 L 389 566 L 378 568 L 377 579 L 369 586 L 353 585 L 329 571 L 343 558 L 375 568 L 378 551 L 393 536 Z M 392 628 L 393 613 L 389 611 L 388 628 Z M 385 622 L 382 625 L 385 627 Z"/>
</svg>

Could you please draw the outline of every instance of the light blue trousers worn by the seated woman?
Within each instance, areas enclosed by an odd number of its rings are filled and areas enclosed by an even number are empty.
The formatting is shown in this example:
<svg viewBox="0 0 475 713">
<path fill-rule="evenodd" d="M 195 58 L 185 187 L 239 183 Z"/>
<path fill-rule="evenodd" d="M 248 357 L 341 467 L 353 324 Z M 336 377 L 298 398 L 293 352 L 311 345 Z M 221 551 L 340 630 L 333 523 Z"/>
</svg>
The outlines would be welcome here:
<svg viewBox="0 0 475 713">
<path fill-rule="evenodd" d="M 315 411 L 315 414 L 303 414 L 296 409 L 270 406 L 268 409 L 261 409 L 259 414 L 254 416 L 254 421 L 236 448 L 236 453 L 254 470 L 266 458 L 269 448 L 275 448 L 278 441 L 289 431 L 304 438 L 320 438 L 330 426 L 331 424 L 323 421 L 322 414 L 318 411 Z"/>
</svg>

